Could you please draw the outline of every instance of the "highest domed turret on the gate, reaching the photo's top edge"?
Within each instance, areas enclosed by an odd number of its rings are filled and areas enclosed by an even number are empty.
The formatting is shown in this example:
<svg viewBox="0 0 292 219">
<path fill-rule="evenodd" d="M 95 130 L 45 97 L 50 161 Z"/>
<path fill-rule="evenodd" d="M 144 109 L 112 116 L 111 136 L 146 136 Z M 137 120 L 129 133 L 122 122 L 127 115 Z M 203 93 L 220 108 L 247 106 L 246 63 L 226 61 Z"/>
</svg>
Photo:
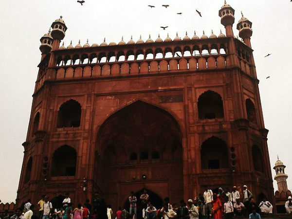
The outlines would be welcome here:
<svg viewBox="0 0 292 219">
<path fill-rule="evenodd" d="M 224 1 L 224 5 L 219 10 L 219 17 L 221 18 L 221 24 L 226 29 L 226 37 L 233 37 L 232 26 L 234 24 L 234 12 L 235 10 Z"/>
</svg>

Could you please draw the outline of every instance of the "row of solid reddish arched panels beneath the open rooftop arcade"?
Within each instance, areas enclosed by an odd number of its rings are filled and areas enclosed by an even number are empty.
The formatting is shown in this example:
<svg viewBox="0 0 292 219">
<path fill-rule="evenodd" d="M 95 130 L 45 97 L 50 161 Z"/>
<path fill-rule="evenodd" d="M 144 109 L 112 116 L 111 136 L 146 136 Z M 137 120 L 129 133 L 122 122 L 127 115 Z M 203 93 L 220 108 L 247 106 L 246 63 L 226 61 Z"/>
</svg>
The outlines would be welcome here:
<svg viewBox="0 0 292 219">
<path fill-rule="evenodd" d="M 123 63 L 122 65 L 95 65 L 93 67 L 86 66 L 84 68 L 60 68 L 56 72 L 56 79 L 61 78 L 80 78 L 80 77 L 97 77 L 101 75 L 127 75 L 127 74 L 143 74 L 143 73 L 163 73 L 168 71 L 197 71 L 204 69 L 225 68 L 229 64 L 229 58 L 218 56 L 217 59 L 209 57 L 208 59 L 195 58 L 171 59 L 169 61 L 162 60 L 160 62 L 133 62 Z"/>
</svg>

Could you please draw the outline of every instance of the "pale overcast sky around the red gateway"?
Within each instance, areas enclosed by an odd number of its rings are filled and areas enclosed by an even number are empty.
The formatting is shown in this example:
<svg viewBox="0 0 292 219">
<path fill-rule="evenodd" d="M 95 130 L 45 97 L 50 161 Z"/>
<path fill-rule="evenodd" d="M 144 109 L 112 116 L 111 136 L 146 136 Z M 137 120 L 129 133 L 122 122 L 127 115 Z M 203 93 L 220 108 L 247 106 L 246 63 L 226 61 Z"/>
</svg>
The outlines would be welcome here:
<svg viewBox="0 0 292 219">
<path fill-rule="evenodd" d="M 32 104 L 32 94 L 40 61 L 39 39 L 60 15 L 68 27 L 65 46 L 81 40 L 85 44 L 118 43 L 130 36 L 156 39 L 167 32 L 173 39 L 194 30 L 201 36 L 211 29 L 219 35 L 218 11 L 224 0 L 0 0 L 0 199 L 15 201 L 23 159 L 23 146 Z M 169 4 L 165 9 L 161 5 Z M 235 9 L 235 36 L 242 10 L 253 22 L 252 47 L 255 50 L 257 77 L 265 127 L 270 130 L 268 145 L 272 168 L 277 155 L 287 165 L 292 178 L 292 2 L 290 0 L 228 0 Z M 148 4 L 156 7 L 150 9 Z M 195 9 L 202 13 L 200 18 Z M 183 15 L 176 15 L 182 12 Z M 163 31 L 160 26 L 169 26 Z M 271 56 L 264 58 L 268 53 Z M 267 76 L 271 76 L 266 80 Z M 274 170 L 273 170 L 274 177 Z M 292 189 L 292 179 L 288 179 Z M 274 183 L 276 189 L 276 184 Z"/>
</svg>

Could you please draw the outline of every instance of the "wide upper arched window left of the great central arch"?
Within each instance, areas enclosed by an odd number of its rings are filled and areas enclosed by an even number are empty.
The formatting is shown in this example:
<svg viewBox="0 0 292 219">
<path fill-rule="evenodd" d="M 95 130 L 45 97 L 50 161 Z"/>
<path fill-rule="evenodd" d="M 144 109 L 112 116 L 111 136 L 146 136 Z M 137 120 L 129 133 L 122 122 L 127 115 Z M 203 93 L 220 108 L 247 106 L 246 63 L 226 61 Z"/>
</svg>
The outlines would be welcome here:
<svg viewBox="0 0 292 219">
<path fill-rule="evenodd" d="M 81 105 L 75 100 L 65 102 L 58 111 L 57 128 L 79 127 Z"/>
</svg>

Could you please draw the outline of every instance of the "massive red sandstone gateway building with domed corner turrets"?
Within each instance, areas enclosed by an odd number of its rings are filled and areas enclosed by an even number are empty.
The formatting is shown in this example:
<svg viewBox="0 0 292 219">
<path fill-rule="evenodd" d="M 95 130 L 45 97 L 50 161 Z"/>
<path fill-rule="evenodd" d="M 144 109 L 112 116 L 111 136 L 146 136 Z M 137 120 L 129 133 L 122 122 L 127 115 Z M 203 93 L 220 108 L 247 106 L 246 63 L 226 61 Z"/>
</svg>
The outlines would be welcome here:
<svg viewBox="0 0 292 219">
<path fill-rule="evenodd" d="M 219 16 L 226 37 L 67 49 L 59 48 L 67 27 L 57 19 L 41 38 L 17 205 L 54 192 L 77 203 L 99 192 L 115 209 L 132 190 L 178 202 L 205 185 L 244 184 L 256 201 L 274 203 L 252 23 L 239 20 L 241 41 L 230 5 Z"/>
</svg>

